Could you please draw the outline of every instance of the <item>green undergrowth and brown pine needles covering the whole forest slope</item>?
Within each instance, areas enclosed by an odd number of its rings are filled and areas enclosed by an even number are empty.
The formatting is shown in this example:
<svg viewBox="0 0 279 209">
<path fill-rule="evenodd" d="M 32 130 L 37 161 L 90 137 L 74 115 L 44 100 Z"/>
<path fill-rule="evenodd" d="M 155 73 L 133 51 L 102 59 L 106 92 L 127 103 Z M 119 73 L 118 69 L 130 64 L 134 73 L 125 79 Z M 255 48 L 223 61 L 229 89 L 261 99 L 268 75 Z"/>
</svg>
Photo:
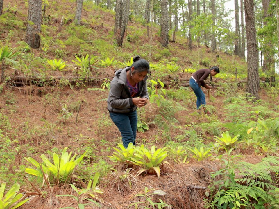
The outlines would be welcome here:
<svg viewBox="0 0 279 209">
<path fill-rule="evenodd" d="M 38 50 L 22 41 L 24 9 L 12 3 L 0 16 L 0 61 L 7 66 L 0 85 L 0 208 L 169 207 L 154 200 L 155 189 L 168 190 L 176 208 L 187 201 L 199 208 L 278 208 L 278 83 L 261 82 L 254 102 L 242 81 L 243 60 L 201 47 L 200 62 L 199 49 L 184 49 L 181 32 L 162 48 L 159 27 L 149 39 L 146 23 L 134 16 L 118 47 L 112 10 L 84 1 L 82 25 L 72 22 L 72 12 L 60 24 L 57 11 L 75 6 L 62 2 L 44 1 L 53 7 L 47 7 Z M 150 100 L 137 109 L 136 146 L 124 148 L 106 99 L 114 70 L 138 54 L 150 62 Z M 196 111 L 188 80 L 214 65 L 221 73 L 206 91 L 208 115 Z M 34 80 L 19 86 L 15 76 Z M 216 167 L 209 171 L 209 165 Z M 179 191 L 171 193 L 174 188 Z"/>
</svg>

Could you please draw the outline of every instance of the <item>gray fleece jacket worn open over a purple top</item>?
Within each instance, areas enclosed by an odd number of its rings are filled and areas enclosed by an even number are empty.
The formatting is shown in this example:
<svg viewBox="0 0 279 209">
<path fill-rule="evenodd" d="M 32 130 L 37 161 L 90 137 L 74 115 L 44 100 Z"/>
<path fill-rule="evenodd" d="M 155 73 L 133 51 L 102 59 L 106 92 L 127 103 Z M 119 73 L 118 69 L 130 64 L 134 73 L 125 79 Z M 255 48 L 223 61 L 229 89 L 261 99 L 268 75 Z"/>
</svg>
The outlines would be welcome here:
<svg viewBox="0 0 279 209">
<path fill-rule="evenodd" d="M 127 85 L 127 71 L 131 67 L 119 69 L 115 72 L 115 76 L 110 82 L 110 93 L 108 95 L 108 110 L 114 113 L 128 113 L 135 111 L 137 106 L 133 104 L 132 97 Z M 146 97 L 149 99 L 147 93 L 147 76 L 139 82 L 139 92 L 135 97 Z"/>
</svg>

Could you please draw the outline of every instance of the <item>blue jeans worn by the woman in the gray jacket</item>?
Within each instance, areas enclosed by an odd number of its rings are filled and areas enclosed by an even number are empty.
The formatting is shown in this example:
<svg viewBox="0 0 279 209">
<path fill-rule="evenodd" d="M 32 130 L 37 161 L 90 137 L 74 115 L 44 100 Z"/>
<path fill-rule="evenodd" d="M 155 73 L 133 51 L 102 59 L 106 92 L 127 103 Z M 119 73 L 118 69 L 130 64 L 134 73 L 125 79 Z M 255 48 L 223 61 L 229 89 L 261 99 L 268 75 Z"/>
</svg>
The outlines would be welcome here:
<svg viewBox="0 0 279 209">
<path fill-rule="evenodd" d="M 132 142 L 134 145 L 137 133 L 137 110 L 130 113 L 110 112 L 110 118 L 121 132 L 124 147 Z"/>
</svg>

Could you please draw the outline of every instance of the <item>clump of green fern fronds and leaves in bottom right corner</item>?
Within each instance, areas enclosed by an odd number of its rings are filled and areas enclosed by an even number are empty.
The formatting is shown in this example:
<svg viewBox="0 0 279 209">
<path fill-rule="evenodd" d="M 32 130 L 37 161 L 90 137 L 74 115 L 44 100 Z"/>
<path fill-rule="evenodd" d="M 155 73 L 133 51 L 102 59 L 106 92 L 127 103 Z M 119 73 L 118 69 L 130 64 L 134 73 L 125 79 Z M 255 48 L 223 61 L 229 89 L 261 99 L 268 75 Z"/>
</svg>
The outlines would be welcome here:
<svg viewBox="0 0 279 209">
<path fill-rule="evenodd" d="M 270 170 L 279 172 L 279 157 L 269 156 L 257 164 L 242 162 L 238 168 L 241 171 L 239 176 L 243 176 L 240 179 L 235 178 L 232 169 L 227 173 L 224 173 L 226 169 L 222 169 L 213 174 L 213 177 L 224 175 L 226 179 L 215 183 L 219 189 L 209 208 L 276 208 L 278 197 L 273 195 L 273 191 L 277 188 L 272 185 Z"/>
</svg>

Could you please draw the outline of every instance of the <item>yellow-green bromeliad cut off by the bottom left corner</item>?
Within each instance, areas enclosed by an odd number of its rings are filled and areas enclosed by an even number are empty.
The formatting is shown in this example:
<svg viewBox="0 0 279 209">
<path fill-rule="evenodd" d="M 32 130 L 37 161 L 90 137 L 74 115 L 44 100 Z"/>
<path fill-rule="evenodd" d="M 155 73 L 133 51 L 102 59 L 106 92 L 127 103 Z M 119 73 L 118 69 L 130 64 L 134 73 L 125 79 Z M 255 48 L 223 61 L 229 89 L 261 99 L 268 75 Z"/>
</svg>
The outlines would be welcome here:
<svg viewBox="0 0 279 209">
<path fill-rule="evenodd" d="M 26 203 L 29 199 L 23 199 L 23 194 L 18 193 L 19 184 L 15 183 L 4 196 L 6 182 L 3 182 L 0 187 L 0 208 L 15 209 Z"/>
</svg>

